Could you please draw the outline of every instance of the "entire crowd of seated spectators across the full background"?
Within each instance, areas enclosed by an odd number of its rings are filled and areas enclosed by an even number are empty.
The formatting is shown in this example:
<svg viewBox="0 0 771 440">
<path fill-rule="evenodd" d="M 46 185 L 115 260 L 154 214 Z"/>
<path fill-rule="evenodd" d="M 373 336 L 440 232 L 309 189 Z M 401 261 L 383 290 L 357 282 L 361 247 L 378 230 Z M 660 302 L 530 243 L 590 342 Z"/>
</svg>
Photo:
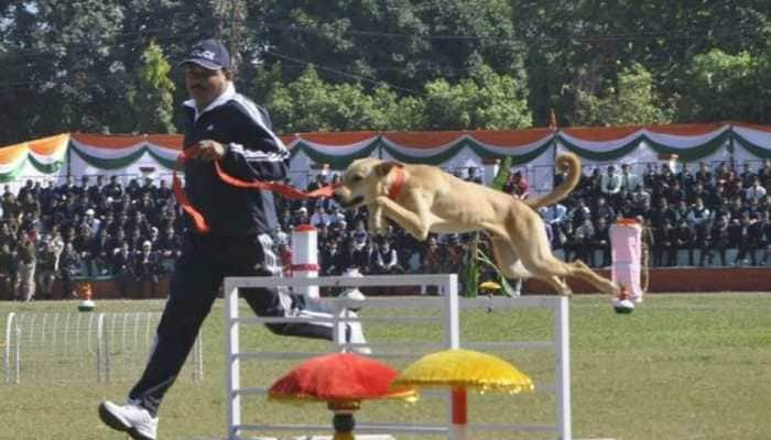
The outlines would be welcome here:
<svg viewBox="0 0 771 440">
<path fill-rule="evenodd" d="M 481 183 L 475 168 L 456 172 Z M 319 174 L 307 190 L 334 184 Z M 564 176 L 555 176 L 558 185 Z M 93 180 L 91 180 L 93 179 Z M 542 208 L 552 248 L 566 260 L 594 267 L 610 264 L 609 228 L 619 218 L 644 224 L 652 266 L 765 265 L 771 263 L 771 161 L 759 169 L 727 163 L 696 168 L 648 164 L 636 174 L 628 164 L 595 167 L 561 204 Z M 519 172 L 503 190 L 528 198 L 531 188 Z M 122 296 L 154 295 L 161 276 L 180 254 L 184 221 L 164 180 L 83 176 L 66 184 L 28 180 L 17 194 L 0 196 L 0 298 L 47 298 L 59 279 L 73 295 L 79 277 L 111 277 Z M 284 263 L 297 224 L 318 229 L 323 275 L 356 268 L 362 274 L 457 273 L 473 235 L 430 235 L 417 242 L 402 229 L 372 235 L 368 212 L 341 209 L 332 199 L 276 198 L 275 239 Z M 728 250 L 735 250 L 729 252 Z M 143 286 L 150 286 L 145 288 Z M 35 294 L 36 290 L 36 294 Z"/>
</svg>

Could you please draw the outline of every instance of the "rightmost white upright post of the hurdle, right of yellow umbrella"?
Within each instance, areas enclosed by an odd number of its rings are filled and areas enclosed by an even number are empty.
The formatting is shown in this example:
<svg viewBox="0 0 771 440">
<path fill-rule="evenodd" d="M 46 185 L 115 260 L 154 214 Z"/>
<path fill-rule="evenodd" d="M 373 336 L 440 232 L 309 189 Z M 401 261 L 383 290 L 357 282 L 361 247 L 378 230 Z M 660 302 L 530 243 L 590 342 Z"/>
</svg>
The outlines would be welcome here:
<svg viewBox="0 0 771 440">
<path fill-rule="evenodd" d="M 573 440 L 571 421 L 571 320 L 567 298 L 556 298 L 554 344 L 556 345 L 557 427 L 560 440 Z"/>
</svg>

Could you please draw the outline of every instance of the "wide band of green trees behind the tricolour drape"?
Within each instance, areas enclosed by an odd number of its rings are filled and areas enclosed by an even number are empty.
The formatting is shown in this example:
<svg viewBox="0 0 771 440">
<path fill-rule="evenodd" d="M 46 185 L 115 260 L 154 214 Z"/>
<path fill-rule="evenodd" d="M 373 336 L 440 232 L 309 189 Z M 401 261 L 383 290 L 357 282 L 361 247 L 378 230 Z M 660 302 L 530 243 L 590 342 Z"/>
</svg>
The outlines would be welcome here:
<svg viewBox="0 0 771 440">
<path fill-rule="evenodd" d="M 217 36 L 280 132 L 771 122 L 768 2 L 0 2 L 0 143 L 173 132 Z M 178 113 L 176 113 L 178 114 Z"/>
</svg>

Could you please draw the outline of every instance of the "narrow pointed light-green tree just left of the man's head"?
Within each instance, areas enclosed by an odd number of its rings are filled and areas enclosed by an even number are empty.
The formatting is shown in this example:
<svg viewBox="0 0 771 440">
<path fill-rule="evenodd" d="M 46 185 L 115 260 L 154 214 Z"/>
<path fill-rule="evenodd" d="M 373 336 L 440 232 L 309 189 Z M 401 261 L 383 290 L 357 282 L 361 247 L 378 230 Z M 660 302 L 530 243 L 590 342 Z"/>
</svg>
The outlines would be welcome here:
<svg viewBox="0 0 771 440">
<path fill-rule="evenodd" d="M 139 72 L 138 88 L 128 94 L 129 103 L 137 114 L 140 133 L 173 133 L 174 82 L 169 78 L 171 64 L 161 47 L 151 43 L 142 55 L 144 65 Z"/>
</svg>

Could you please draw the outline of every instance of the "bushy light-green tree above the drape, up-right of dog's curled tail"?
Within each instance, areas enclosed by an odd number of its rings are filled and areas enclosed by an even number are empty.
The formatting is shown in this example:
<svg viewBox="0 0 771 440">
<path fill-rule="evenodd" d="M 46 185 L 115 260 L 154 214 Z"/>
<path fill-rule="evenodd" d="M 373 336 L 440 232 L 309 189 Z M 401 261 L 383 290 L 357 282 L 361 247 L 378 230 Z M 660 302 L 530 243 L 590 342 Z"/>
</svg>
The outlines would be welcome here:
<svg viewBox="0 0 771 440">
<path fill-rule="evenodd" d="M 606 87 L 600 95 L 576 91 L 573 125 L 645 125 L 672 121 L 673 101 L 656 94 L 653 76 L 639 64 L 623 69 L 617 86 Z"/>
</svg>

